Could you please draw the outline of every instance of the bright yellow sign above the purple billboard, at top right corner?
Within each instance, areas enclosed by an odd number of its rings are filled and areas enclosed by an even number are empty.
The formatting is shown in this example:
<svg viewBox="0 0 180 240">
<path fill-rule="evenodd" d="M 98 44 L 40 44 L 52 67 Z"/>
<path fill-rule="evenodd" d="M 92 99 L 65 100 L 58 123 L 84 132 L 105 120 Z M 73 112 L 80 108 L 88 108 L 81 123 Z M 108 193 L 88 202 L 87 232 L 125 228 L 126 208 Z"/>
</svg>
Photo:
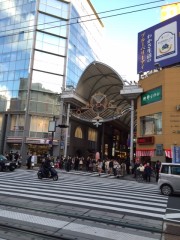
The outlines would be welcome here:
<svg viewBox="0 0 180 240">
<path fill-rule="evenodd" d="M 161 7 L 161 22 L 180 14 L 180 2 Z"/>
</svg>

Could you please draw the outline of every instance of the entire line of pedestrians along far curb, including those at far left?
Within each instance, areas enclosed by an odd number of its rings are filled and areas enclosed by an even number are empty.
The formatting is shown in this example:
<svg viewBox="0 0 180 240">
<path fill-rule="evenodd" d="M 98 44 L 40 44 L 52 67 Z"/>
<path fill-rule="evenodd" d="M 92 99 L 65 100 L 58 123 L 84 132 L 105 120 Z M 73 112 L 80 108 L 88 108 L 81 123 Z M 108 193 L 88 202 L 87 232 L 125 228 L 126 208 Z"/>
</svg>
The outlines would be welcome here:
<svg viewBox="0 0 180 240">
<path fill-rule="evenodd" d="M 5 156 L 10 161 L 16 161 L 21 165 L 22 157 L 18 152 L 5 153 Z M 65 169 L 67 172 L 71 170 L 85 170 L 87 172 L 98 172 L 114 175 L 117 177 L 124 177 L 125 175 L 132 174 L 134 178 L 138 175 L 142 175 L 143 179 L 147 182 L 151 181 L 152 173 L 155 173 L 156 181 L 159 179 L 159 170 L 161 162 L 157 161 L 152 167 L 150 162 L 142 163 L 135 161 L 130 163 L 129 157 L 126 159 L 114 159 L 106 158 L 104 160 L 96 159 L 88 156 L 87 158 L 78 156 L 57 157 L 56 160 L 51 159 L 50 156 L 45 155 L 42 158 L 42 164 L 44 161 L 52 161 L 55 168 Z M 28 153 L 26 166 L 27 169 L 32 169 L 35 162 L 37 163 L 37 156 L 35 154 Z"/>
</svg>

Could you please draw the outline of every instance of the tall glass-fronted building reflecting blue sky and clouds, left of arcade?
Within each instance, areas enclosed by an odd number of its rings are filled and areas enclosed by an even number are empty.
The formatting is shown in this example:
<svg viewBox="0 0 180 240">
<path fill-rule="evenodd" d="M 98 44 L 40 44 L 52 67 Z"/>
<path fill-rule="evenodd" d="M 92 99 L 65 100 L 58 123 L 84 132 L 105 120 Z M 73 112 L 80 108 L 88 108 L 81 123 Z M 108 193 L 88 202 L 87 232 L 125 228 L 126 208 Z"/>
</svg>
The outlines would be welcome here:
<svg viewBox="0 0 180 240">
<path fill-rule="evenodd" d="M 89 0 L 0 0 L 0 152 L 49 150 L 62 89 L 102 60 L 102 29 Z"/>
</svg>

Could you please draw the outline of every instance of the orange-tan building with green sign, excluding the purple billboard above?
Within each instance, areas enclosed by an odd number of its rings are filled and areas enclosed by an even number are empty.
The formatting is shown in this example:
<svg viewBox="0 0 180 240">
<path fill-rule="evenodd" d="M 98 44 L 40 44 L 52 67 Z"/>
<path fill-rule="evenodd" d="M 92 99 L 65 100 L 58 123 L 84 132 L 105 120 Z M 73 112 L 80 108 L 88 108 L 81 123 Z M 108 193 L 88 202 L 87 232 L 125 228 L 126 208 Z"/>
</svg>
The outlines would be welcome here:
<svg viewBox="0 0 180 240">
<path fill-rule="evenodd" d="M 180 146 L 179 74 L 174 66 L 139 81 L 136 156 L 142 161 L 171 161 L 172 147 Z"/>
</svg>

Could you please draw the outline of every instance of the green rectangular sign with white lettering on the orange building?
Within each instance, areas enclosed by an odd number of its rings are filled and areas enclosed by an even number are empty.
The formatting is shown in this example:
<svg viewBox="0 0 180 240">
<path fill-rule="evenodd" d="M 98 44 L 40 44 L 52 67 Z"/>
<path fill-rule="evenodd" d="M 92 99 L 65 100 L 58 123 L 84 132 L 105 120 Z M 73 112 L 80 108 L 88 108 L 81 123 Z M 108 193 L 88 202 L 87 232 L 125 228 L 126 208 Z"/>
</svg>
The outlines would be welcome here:
<svg viewBox="0 0 180 240">
<path fill-rule="evenodd" d="M 162 87 L 141 94 L 141 106 L 162 100 Z"/>
</svg>

